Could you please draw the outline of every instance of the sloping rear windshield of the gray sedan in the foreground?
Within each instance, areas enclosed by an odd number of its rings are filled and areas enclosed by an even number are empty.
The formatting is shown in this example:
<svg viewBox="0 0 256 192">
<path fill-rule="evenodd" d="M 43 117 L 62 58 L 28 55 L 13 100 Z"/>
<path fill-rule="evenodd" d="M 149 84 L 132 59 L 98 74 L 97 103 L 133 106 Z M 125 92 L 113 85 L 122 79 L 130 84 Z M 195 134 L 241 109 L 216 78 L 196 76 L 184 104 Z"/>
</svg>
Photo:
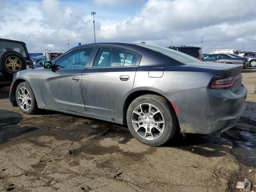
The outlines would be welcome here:
<svg viewBox="0 0 256 192">
<path fill-rule="evenodd" d="M 190 55 L 184 54 L 182 52 L 172 50 L 169 48 L 164 48 L 164 47 L 159 47 L 159 46 L 154 46 L 154 45 L 148 45 L 148 44 L 137 44 L 138 46 L 142 46 L 157 52 L 160 52 L 170 58 L 173 58 L 179 62 L 182 63 L 193 63 L 193 62 L 203 62 L 201 60 L 198 60 Z"/>
</svg>

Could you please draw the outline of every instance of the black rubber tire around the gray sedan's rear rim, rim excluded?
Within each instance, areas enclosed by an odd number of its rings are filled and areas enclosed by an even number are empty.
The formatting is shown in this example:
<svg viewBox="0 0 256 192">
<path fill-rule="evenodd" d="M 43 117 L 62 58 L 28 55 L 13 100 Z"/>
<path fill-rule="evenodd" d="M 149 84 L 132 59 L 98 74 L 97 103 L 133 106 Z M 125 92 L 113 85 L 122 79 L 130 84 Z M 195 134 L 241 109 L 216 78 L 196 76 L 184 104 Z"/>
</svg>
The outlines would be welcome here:
<svg viewBox="0 0 256 192">
<path fill-rule="evenodd" d="M 148 103 L 156 106 L 162 113 L 165 121 L 165 128 L 158 138 L 154 140 L 147 140 L 139 136 L 139 134 L 134 130 L 132 126 L 132 112 L 139 105 L 143 103 Z M 151 146 L 160 146 L 168 142 L 176 133 L 177 130 L 177 117 L 174 111 L 172 110 L 170 103 L 163 97 L 157 95 L 143 95 L 132 101 L 130 106 L 128 107 L 126 114 L 126 121 L 128 128 L 131 134 L 144 144 L 148 144 Z"/>
</svg>

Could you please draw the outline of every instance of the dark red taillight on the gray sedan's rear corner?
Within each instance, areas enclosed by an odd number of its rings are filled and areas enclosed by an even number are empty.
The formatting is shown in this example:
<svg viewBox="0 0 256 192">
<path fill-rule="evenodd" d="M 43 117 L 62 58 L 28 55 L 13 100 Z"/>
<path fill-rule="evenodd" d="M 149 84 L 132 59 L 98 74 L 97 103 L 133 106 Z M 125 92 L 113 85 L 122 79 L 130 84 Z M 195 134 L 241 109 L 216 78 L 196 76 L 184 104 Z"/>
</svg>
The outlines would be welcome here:
<svg viewBox="0 0 256 192">
<path fill-rule="evenodd" d="M 227 77 L 225 75 L 216 77 L 212 79 L 210 83 L 210 88 L 212 89 L 227 89 L 233 86 L 234 82 L 241 78 L 241 73 L 236 74 L 235 76 Z"/>
</svg>

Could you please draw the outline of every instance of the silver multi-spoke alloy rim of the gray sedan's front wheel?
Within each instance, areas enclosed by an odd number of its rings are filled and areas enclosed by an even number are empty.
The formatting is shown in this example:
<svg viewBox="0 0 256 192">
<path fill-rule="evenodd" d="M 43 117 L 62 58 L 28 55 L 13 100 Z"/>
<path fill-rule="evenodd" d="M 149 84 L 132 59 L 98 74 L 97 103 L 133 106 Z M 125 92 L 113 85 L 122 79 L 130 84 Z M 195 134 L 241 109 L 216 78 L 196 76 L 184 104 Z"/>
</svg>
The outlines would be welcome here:
<svg viewBox="0 0 256 192">
<path fill-rule="evenodd" d="M 20 107 L 25 111 L 28 111 L 31 107 L 31 96 L 25 87 L 21 87 L 18 90 L 18 102 Z"/>
</svg>

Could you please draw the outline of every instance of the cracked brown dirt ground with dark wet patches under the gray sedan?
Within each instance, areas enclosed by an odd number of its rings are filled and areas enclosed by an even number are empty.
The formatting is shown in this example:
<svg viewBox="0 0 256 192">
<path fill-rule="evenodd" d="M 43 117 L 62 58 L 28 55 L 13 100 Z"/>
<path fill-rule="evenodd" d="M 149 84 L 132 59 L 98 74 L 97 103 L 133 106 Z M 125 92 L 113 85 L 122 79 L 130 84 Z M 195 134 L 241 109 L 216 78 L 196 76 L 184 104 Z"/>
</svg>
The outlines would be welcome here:
<svg viewBox="0 0 256 192">
<path fill-rule="evenodd" d="M 242 76 L 247 106 L 235 128 L 220 137 L 180 135 L 162 147 L 141 144 L 109 122 L 22 114 L 3 88 L 0 191 L 232 192 L 244 178 L 256 190 L 256 168 L 248 172 L 256 167 L 256 68 Z"/>
</svg>

